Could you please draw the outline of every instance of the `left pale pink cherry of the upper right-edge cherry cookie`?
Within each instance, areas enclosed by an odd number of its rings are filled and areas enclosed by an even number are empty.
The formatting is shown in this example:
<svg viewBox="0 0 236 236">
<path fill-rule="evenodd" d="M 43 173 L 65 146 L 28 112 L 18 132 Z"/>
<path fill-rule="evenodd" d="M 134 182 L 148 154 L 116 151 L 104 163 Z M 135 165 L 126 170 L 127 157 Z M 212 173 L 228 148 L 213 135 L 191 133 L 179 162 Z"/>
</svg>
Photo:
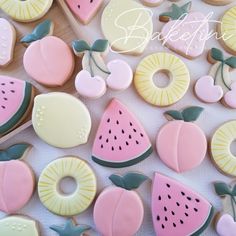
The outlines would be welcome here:
<svg viewBox="0 0 236 236">
<path fill-rule="evenodd" d="M 195 93 L 200 100 L 207 103 L 218 102 L 223 97 L 223 89 L 214 85 L 211 76 L 203 76 L 196 82 Z"/>
</svg>

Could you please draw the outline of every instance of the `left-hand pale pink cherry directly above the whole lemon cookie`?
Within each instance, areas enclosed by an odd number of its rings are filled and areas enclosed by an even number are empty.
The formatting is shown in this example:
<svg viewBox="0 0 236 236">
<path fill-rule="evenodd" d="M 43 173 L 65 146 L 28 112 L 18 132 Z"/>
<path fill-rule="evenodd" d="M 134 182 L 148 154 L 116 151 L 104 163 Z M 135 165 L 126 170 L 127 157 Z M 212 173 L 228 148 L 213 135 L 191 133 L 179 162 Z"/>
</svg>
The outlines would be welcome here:
<svg viewBox="0 0 236 236">
<path fill-rule="evenodd" d="M 78 93 L 87 98 L 96 99 L 106 92 L 106 83 L 100 76 L 92 77 L 86 70 L 78 73 L 75 79 L 75 87 Z"/>
</svg>

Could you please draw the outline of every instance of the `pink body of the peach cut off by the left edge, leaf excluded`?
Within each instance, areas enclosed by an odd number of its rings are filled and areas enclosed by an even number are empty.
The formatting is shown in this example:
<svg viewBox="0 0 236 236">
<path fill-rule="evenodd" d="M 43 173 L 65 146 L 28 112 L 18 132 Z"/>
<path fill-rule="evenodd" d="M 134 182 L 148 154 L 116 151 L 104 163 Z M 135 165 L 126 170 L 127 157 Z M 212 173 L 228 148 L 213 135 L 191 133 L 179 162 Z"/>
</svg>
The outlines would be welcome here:
<svg viewBox="0 0 236 236">
<path fill-rule="evenodd" d="M 16 213 L 31 198 L 34 190 L 32 171 L 18 160 L 0 162 L 0 210 Z"/>
</svg>

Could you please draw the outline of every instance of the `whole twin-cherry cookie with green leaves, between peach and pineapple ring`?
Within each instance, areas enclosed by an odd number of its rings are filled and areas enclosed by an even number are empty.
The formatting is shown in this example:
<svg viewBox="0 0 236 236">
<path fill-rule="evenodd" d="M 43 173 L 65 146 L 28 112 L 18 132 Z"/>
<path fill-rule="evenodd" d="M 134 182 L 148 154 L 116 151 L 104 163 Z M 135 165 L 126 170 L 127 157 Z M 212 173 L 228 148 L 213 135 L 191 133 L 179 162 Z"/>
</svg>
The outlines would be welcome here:
<svg viewBox="0 0 236 236">
<path fill-rule="evenodd" d="M 106 92 L 106 85 L 120 91 L 132 83 L 133 71 L 123 60 L 112 60 L 107 65 L 103 55 L 108 51 L 107 40 L 96 40 L 90 47 L 85 41 L 74 41 L 76 55 L 83 55 L 82 67 L 75 79 L 75 87 L 81 96 L 99 98 Z"/>
</svg>

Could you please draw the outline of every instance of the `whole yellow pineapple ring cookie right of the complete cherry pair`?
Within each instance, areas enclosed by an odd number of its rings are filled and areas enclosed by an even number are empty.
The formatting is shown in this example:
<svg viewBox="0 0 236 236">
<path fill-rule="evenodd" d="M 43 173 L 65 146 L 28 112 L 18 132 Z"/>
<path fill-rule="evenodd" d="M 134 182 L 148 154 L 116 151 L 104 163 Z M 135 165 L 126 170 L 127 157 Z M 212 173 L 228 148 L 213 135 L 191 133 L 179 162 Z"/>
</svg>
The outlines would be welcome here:
<svg viewBox="0 0 236 236">
<path fill-rule="evenodd" d="M 168 86 L 161 88 L 155 85 L 153 76 L 157 72 L 164 72 L 170 78 Z M 178 102 L 187 92 L 189 83 L 189 70 L 184 62 L 166 52 L 145 57 L 134 76 L 134 85 L 139 95 L 146 102 L 159 107 Z"/>
</svg>

